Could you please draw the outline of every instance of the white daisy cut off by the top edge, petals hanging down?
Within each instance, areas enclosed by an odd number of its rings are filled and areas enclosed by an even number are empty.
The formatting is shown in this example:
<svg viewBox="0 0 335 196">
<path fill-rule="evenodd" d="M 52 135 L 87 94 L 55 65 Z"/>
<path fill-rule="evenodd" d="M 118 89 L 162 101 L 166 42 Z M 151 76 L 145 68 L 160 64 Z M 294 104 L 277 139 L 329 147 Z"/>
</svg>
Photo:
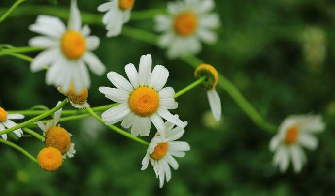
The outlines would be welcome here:
<svg viewBox="0 0 335 196">
<path fill-rule="evenodd" d="M 107 12 L 102 22 L 106 25 L 107 37 L 115 37 L 122 31 L 122 25 L 130 19 L 135 0 L 108 0 L 98 7 L 99 12 Z"/>
</svg>

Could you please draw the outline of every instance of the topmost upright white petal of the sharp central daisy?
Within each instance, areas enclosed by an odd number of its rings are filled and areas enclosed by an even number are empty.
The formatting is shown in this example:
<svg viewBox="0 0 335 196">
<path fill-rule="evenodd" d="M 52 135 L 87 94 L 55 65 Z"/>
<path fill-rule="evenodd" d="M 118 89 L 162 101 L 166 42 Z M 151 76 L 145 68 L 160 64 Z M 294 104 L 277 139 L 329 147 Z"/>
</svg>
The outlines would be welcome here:
<svg viewBox="0 0 335 196">
<path fill-rule="evenodd" d="M 142 55 L 138 71 L 138 83 L 140 86 L 148 85 L 151 75 L 151 55 Z"/>
</svg>

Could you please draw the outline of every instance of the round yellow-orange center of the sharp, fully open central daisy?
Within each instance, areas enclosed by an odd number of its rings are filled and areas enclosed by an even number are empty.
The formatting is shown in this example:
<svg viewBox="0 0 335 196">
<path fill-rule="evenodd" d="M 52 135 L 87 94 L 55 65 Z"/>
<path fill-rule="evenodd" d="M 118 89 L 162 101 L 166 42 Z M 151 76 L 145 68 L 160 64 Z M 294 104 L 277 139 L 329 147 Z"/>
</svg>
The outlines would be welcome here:
<svg viewBox="0 0 335 196">
<path fill-rule="evenodd" d="M 130 95 L 129 106 L 139 116 L 150 116 L 158 109 L 158 93 L 149 87 L 139 87 Z"/>
</svg>

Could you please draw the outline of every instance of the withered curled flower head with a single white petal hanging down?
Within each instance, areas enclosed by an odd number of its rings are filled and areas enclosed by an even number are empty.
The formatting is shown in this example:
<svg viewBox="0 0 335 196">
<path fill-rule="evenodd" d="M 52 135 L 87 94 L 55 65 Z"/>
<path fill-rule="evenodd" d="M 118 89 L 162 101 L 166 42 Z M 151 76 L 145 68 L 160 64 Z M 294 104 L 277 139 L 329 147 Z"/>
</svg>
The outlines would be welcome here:
<svg viewBox="0 0 335 196">
<path fill-rule="evenodd" d="M 221 119 L 221 99 L 215 87 L 218 85 L 218 72 L 209 64 L 201 64 L 197 67 L 194 73 L 197 79 L 207 76 L 206 80 L 202 82 L 202 86 L 207 90 L 207 97 L 209 106 L 211 107 L 213 117 L 219 121 Z"/>
</svg>

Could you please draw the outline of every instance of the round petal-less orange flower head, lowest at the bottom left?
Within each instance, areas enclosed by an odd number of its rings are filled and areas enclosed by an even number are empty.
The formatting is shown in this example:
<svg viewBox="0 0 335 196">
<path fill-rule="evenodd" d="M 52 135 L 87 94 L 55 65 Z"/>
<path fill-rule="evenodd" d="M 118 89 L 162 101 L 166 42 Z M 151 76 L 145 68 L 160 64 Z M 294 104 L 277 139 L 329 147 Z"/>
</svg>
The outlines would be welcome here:
<svg viewBox="0 0 335 196">
<path fill-rule="evenodd" d="M 63 157 L 58 149 L 47 147 L 42 149 L 37 156 L 38 165 L 46 171 L 55 171 L 63 163 Z"/>
</svg>

